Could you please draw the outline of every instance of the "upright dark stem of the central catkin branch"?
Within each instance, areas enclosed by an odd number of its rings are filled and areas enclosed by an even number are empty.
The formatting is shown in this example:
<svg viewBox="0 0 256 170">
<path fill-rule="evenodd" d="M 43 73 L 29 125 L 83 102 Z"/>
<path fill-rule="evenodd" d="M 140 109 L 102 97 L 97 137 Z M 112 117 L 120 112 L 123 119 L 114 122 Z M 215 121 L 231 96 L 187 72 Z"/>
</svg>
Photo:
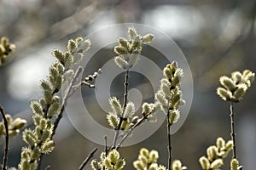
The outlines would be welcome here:
<svg viewBox="0 0 256 170">
<path fill-rule="evenodd" d="M 124 120 L 125 108 L 126 108 L 126 105 L 127 105 L 127 98 L 128 98 L 128 84 L 129 84 L 128 79 L 129 79 L 129 70 L 127 70 L 126 73 L 125 73 L 125 84 L 124 84 L 125 85 L 125 94 L 124 94 L 123 112 L 122 112 L 122 116 L 119 117 L 119 126 L 115 130 L 112 149 L 115 148 L 115 146 L 116 146 L 116 142 L 117 142 L 117 139 L 119 137 L 119 130 L 120 130 L 122 122 Z"/>
</svg>

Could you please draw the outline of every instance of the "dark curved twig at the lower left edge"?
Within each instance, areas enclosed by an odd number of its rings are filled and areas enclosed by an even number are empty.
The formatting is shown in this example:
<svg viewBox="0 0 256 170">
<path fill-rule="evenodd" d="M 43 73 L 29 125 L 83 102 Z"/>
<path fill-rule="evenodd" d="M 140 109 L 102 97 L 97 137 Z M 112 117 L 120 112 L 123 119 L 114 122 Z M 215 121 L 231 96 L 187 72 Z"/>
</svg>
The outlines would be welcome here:
<svg viewBox="0 0 256 170">
<path fill-rule="evenodd" d="M 4 156 L 3 156 L 3 167 L 2 170 L 6 170 L 7 161 L 8 161 L 8 150 L 9 150 L 9 129 L 8 129 L 8 121 L 6 116 L 4 115 L 3 108 L 0 106 L 0 112 L 3 116 L 3 124 L 5 127 L 5 148 L 4 148 Z"/>
</svg>

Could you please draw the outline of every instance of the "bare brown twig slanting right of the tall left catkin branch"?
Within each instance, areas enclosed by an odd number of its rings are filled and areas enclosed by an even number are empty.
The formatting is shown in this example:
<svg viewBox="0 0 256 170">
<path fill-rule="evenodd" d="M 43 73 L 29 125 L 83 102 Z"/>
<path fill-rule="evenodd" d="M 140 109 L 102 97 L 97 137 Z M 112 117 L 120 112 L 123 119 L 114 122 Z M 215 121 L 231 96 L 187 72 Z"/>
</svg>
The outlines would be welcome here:
<svg viewBox="0 0 256 170">
<path fill-rule="evenodd" d="M 79 74 L 83 71 L 83 68 L 81 66 L 79 66 L 79 68 L 77 69 L 77 71 L 75 72 L 72 81 L 69 83 L 69 86 L 67 88 L 67 93 L 65 94 L 64 98 L 62 99 L 62 104 L 61 104 L 61 111 L 60 114 L 57 116 L 55 123 L 54 123 L 54 128 L 53 128 L 53 133 L 51 135 L 51 138 L 55 135 L 55 131 L 56 128 L 58 127 L 61 118 L 63 116 L 63 111 L 65 110 L 65 105 L 67 105 L 67 97 L 73 87 L 73 83 L 75 82 L 76 78 L 79 76 Z"/>
</svg>

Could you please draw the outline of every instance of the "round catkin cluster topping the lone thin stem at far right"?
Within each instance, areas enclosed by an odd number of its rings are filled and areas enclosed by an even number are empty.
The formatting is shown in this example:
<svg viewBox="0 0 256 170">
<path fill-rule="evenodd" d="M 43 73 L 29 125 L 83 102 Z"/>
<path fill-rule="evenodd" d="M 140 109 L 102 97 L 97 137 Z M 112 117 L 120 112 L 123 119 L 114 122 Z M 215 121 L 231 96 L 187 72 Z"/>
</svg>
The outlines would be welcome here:
<svg viewBox="0 0 256 170">
<path fill-rule="evenodd" d="M 231 77 L 220 77 L 219 82 L 224 88 L 217 88 L 217 94 L 221 99 L 239 102 L 247 93 L 247 89 L 251 87 L 254 77 L 255 73 L 249 70 L 242 73 L 232 72 Z"/>
</svg>

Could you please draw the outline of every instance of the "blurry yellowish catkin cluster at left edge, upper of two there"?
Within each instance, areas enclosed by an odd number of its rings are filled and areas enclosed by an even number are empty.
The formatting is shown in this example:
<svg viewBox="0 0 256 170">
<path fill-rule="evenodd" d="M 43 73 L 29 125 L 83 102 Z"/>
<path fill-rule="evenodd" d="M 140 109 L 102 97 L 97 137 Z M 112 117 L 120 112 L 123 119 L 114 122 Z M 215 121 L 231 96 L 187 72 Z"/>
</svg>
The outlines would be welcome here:
<svg viewBox="0 0 256 170">
<path fill-rule="evenodd" d="M 6 65 L 9 54 L 15 51 L 15 44 L 9 42 L 7 37 L 2 37 L 0 42 L 0 65 Z"/>
</svg>

